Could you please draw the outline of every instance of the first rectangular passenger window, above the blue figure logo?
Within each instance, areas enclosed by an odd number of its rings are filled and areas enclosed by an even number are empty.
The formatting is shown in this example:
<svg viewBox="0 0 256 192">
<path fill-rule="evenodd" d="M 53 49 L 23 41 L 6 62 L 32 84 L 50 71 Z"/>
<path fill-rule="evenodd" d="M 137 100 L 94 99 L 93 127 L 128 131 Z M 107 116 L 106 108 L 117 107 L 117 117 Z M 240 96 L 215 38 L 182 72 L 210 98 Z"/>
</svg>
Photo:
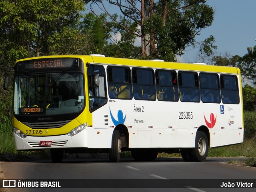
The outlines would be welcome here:
<svg viewBox="0 0 256 192">
<path fill-rule="evenodd" d="M 130 68 L 110 67 L 108 72 L 108 96 L 111 99 L 132 99 Z"/>
</svg>

